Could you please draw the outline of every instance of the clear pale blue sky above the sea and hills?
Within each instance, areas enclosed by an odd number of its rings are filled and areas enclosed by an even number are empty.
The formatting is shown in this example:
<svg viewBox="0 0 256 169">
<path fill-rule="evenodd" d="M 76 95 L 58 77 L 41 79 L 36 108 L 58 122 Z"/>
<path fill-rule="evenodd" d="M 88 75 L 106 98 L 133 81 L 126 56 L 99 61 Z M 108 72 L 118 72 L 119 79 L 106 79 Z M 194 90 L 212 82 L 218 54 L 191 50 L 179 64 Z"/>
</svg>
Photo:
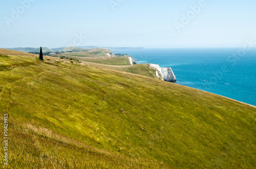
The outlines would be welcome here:
<svg viewBox="0 0 256 169">
<path fill-rule="evenodd" d="M 174 23 L 199 0 L 33 0 L 28 8 L 23 1 L 29 0 L 1 2 L 0 47 L 68 46 L 75 35 L 86 37 L 75 41 L 80 46 L 240 47 L 244 39 L 256 41 L 255 0 L 205 0 L 180 32 Z M 120 3 L 113 10 L 110 2 Z"/>
</svg>

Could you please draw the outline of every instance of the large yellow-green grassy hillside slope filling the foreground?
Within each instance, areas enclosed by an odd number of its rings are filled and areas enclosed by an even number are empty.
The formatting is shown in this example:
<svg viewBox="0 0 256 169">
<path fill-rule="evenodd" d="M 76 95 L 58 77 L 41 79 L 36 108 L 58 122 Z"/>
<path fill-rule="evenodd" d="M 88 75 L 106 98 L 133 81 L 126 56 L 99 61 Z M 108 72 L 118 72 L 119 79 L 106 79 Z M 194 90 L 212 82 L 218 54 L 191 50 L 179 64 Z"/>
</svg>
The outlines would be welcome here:
<svg viewBox="0 0 256 169">
<path fill-rule="evenodd" d="M 256 167 L 255 107 L 95 64 L 0 58 L 30 60 L 0 71 L 12 167 Z"/>
</svg>

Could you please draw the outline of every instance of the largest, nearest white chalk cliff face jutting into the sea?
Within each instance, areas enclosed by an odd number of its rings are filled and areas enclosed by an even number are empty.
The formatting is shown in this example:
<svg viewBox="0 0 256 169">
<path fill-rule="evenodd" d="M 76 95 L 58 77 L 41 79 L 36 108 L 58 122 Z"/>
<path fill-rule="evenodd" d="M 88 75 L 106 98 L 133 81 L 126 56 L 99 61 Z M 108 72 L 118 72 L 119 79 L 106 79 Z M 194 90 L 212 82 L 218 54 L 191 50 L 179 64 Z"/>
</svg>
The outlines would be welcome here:
<svg viewBox="0 0 256 169">
<path fill-rule="evenodd" d="M 159 65 L 150 64 L 150 67 L 156 70 L 156 76 L 165 81 L 176 81 L 176 76 L 172 68 L 160 68 Z"/>
</svg>

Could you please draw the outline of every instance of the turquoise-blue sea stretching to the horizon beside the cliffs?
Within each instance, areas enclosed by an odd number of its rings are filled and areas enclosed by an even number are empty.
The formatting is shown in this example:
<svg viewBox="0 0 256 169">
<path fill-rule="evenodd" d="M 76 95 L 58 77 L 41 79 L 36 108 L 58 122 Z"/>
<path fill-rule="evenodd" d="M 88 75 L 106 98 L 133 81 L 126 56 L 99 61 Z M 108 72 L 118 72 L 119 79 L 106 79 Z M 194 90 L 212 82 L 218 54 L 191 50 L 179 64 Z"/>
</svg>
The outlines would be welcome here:
<svg viewBox="0 0 256 169">
<path fill-rule="evenodd" d="M 233 57 L 239 48 L 115 50 L 135 60 L 171 67 L 178 84 L 256 106 L 256 49 Z"/>
</svg>

